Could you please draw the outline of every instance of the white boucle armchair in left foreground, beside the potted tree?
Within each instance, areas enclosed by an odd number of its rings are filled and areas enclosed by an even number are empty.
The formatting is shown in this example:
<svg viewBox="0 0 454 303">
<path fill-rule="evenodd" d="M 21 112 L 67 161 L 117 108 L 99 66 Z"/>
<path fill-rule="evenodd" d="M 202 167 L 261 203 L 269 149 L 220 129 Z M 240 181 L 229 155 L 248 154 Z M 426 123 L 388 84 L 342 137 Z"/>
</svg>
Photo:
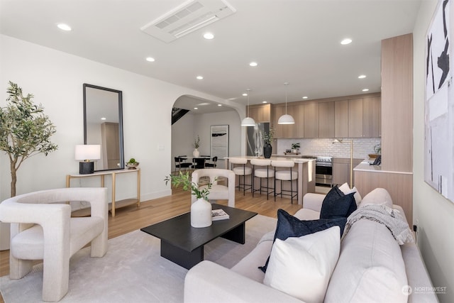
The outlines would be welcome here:
<svg viewBox="0 0 454 303">
<path fill-rule="evenodd" d="M 71 218 L 66 202 L 89 202 L 89 217 Z M 107 251 L 106 188 L 62 188 L 4 200 L 0 221 L 11 223 L 10 278 L 21 279 L 43 260 L 43 301 L 59 301 L 68 291 L 70 258 L 91 242 L 92 257 Z"/>
</svg>

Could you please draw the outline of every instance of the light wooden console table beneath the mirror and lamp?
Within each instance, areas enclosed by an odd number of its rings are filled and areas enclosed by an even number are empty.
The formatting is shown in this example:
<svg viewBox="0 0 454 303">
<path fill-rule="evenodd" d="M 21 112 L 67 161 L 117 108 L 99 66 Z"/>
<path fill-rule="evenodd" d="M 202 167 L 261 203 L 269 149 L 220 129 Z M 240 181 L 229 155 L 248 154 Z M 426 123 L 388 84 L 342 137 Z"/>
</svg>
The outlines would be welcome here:
<svg viewBox="0 0 454 303">
<path fill-rule="evenodd" d="M 131 199 L 123 199 L 119 201 L 115 201 L 115 187 L 116 187 L 116 175 L 124 174 L 128 172 L 137 172 L 137 198 Z M 128 206 L 134 203 L 137 203 L 137 206 L 140 206 L 140 168 L 135 170 L 104 170 L 99 172 L 94 172 L 92 174 L 87 175 L 67 175 L 66 176 L 66 187 L 71 187 L 71 179 L 74 178 L 86 178 L 86 177 L 101 177 L 101 187 L 104 187 L 104 176 L 111 175 L 112 177 L 112 202 L 109 204 L 109 210 L 111 211 L 112 216 L 115 216 L 115 209 L 121 208 L 123 206 Z M 89 215 L 88 211 L 84 209 L 80 209 L 77 211 L 73 211 L 73 214 L 77 216 L 87 216 Z"/>
</svg>

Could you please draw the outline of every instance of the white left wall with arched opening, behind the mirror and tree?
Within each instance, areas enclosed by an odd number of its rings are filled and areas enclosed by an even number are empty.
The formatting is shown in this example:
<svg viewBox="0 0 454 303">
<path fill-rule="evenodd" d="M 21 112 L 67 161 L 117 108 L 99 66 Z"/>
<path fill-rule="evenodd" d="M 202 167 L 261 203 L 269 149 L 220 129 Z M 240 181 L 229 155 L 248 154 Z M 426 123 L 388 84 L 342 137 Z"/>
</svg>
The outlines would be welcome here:
<svg viewBox="0 0 454 303">
<path fill-rule="evenodd" d="M 178 97 L 189 94 L 210 99 L 236 106 L 240 115 L 245 114 L 245 106 L 232 101 L 6 35 L 0 35 L 0 45 L 0 106 L 6 105 L 8 81 L 16 82 L 23 92 L 35 95 L 35 103 L 43 104 L 57 128 L 52 142 L 58 150 L 23 163 L 18 170 L 17 194 L 65 187 L 65 176 L 78 173 L 74 145 L 84 143 L 83 83 L 123 91 L 125 159 L 134 157 L 140 162 L 142 201 L 170 194 L 170 186 L 162 180 L 172 169 L 171 112 Z M 0 153 L 0 201 L 10 196 L 10 182 L 9 159 Z M 118 199 L 134 192 L 129 182 L 118 183 Z"/>
</svg>

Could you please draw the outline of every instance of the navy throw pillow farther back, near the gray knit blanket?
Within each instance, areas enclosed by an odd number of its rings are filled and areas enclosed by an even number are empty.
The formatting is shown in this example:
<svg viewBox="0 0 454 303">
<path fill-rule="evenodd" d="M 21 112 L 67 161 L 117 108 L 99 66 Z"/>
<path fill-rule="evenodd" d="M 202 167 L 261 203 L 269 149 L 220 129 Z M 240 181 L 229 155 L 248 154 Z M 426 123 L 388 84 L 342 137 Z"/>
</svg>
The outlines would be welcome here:
<svg viewBox="0 0 454 303">
<path fill-rule="evenodd" d="M 336 185 L 326 194 L 321 204 L 320 219 L 347 218 L 356 210 L 354 192 L 343 194 Z"/>
</svg>

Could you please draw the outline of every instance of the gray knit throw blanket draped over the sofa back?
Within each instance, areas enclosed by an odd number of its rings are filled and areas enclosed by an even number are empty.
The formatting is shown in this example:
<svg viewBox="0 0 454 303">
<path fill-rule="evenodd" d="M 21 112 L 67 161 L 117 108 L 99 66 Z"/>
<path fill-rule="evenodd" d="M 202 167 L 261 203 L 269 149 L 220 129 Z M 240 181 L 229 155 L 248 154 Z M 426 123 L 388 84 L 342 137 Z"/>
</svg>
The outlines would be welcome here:
<svg viewBox="0 0 454 303">
<path fill-rule="evenodd" d="M 348 231 L 350 231 L 351 226 L 353 226 L 356 221 L 361 219 L 367 219 L 384 224 L 384 226 L 391 231 L 392 236 L 396 239 L 399 245 L 414 242 L 409 224 L 405 221 L 401 214 L 399 214 L 399 211 L 384 205 L 365 205 L 354 211 L 353 214 L 350 214 L 347 218 L 347 223 L 345 224 L 342 239 L 345 238 L 345 235 Z"/>
</svg>

